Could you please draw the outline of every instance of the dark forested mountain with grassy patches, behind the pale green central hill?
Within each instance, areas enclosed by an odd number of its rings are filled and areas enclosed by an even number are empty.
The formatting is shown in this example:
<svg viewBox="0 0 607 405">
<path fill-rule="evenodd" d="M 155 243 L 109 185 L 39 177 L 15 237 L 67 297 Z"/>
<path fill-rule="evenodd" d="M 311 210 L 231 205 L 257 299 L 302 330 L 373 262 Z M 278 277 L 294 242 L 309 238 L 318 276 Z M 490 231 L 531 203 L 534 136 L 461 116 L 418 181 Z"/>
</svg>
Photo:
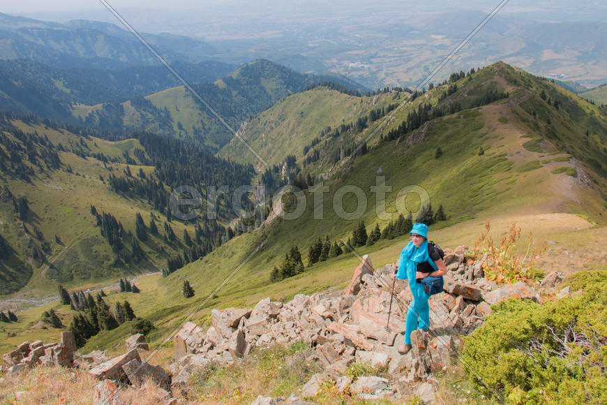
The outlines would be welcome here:
<svg viewBox="0 0 607 405">
<path fill-rule="evenodd" d="M 267 110 L 282 98 L 329 80 L 345 92 L 356 93 L 361 89 L 359 84 L 336 75 L 302 74 L 266 60 L 245 64 L 213 83 L 193 84 L 193 89 L 236 131 L 243 120 Z M 125 103 L 75 105 L 73 115 L 87 126 L 112 130 L 144 128 L 194 140 L 212 151 L 233 137 L 183 86 Z"/>
</svg>

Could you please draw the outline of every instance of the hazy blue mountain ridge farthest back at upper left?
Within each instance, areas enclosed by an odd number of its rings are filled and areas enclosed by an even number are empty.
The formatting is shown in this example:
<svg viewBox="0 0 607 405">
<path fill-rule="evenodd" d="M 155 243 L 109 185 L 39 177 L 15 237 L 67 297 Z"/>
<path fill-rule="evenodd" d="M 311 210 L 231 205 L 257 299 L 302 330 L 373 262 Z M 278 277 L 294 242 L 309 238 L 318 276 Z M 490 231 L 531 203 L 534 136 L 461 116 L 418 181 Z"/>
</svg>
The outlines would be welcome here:
<svg viewBox="0 0 607 405">
<path fill-rule="evenodd" d="M 200 62 L 216 50 L 201 40 L 143 34 L 169 61 Z M 57 68 L 158 66 L 133 34 L 115 24 L 75 20 L 66 24 L 0 13 L 0 59 L 30 59 Z"/>
</svg>

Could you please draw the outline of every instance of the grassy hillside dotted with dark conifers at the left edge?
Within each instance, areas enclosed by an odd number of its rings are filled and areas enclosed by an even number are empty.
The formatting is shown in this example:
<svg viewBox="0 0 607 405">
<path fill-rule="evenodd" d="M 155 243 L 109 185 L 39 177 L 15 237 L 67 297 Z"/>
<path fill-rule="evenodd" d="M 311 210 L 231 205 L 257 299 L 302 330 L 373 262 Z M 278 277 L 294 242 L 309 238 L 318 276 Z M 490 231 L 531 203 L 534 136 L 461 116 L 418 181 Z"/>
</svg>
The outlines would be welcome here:
<svg viewBox="0 0 607 405">
<path fill-rule="evenodd" d="M 158 272 L 171 256 L 204 255 L 222 242 L 233 214 L 220 197 L 218 221 L 173 221 L 171 191 L 190 184 L 204 193 L 204 184 L 248 184 L 252 175 L 156 135 L 111 142 L 32 117 L 1 119 L 3 295 L 27 285 L 22 297 L 45 296 L 57 283 L 98 285 Z M 193 156 L 196 168 L 186 165 Z"/>
</svg>

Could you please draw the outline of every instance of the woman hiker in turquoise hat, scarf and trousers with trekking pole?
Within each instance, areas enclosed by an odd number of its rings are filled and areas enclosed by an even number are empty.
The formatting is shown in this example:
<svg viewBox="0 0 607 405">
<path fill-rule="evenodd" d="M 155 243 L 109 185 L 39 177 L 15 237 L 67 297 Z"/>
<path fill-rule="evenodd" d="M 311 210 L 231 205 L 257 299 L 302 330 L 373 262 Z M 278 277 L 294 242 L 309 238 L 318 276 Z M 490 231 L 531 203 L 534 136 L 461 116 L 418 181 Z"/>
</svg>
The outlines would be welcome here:
<svg viewBox="0 0 607 405">
<path fill-rule="evenodd" d="M 399 280 L 407 279 L 413 295 L 413 301 L 407 311 L 405 344 L 398 348 L 398 352 L 403 354 L 411 350 L 411 332 L 417 329 L 428 330 L 430 327 L 430 307 L 428 307 L 430 295 L 424 292 L 421 279 L 428 275 L 440 277 L 447 273 L 437 248 L 431 245 L 433 249 L 428 251 L 428 226 L 425 223 L 414 223 L 410 235 L 411 242 L 400 252 L 398 270 L 392 275 L 393 279 L 394 277 Z"/>
</svg>

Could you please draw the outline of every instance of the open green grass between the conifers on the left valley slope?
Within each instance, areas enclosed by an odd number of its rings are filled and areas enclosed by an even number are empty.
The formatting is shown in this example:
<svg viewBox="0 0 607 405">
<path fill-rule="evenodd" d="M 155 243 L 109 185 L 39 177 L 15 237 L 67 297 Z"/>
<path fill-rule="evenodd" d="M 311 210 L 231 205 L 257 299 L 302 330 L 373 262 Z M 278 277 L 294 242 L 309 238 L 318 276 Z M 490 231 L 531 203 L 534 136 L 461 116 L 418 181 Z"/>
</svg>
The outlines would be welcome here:
<svg viewBox="0 0 607 405">
<path fill-rule="evenodd" d="M 91 152 L 101 152 L 108 158 L 121 159 L 124 151 L 133 155 L 135 148 L 142 149 L 137 140 L 124 140 L 120 142 L 108 142 L 98 138 L 81 138 L 66 131 L 55 131 L 43 126 L 30 126 L 20 121 L 14 124 L 25 133 L 37 131 L 45 134 L 49 140 L 57 145 L 76 145 L 80 139 L 91 149 Z M 126 269 L 112 267 L 114 254 L 110 246 L 100 235 L 99 228 L 95 225 L 95 219 L 90 213 L 90 206 L 94 205 L 98 212 L 108 212 L 114 215 L 123 224 L 126 232 L 135 233 L 135 214 L 140 212 L 144 221 L 149 223 L 150 212 L 160 217 L 156 221 L 162 228 L 164 216 L 156 212 L 149 204 L 140 200 L 123 198 L 112 192 L 107 182 L 102 182 L 100 176 L 107 180 L 110 170 L 103 167 L 103 163 L 93 158 L 82 159 L 71 152 L 60 152 L 59 157 L 66 167 L 69 165 L 73 172 L 66 170 L 54 170 L 38 173 L 31 184 L 21 182 L 17 179 L 3 178 L 0 184 L 8 185 L 15 196 L 27 196 L 31 214 L 26 221 L 30 233 L 36 226 L 45 235 L 45 240 L 51 243 L 52 253 L 47 256 L 47 261 L 53 263 L 55 270 L 49 269 L 48 265 L 37 267 L 35 263 L 31 279 L 26 288 L 20 291 L 19 297 L 33 298 L 40 295 L 55 294 L 57 283 L 49 283 L 49 278 L 54 279 L 56 272 L 63 277 L 72 278 L 72 281 L 64 281 L 66 286 L 80 286 L 88 288 L 99 286 L 114 280 L 126 272 L 126 274 L 137 274 L 146 271 L 156 271 L 165 266 L 165 255 L 160 253 L 160 246 L 167 251 L 172 251 L 171 246 L 166 246 L 160 237 L 150 237 L 142 242 L 142 249 L 149 260 L 139 265 L 130 266 Z M 121 176 L 122 170 L 126 168 L 123 163 L 108 163 L 113 168 L 114 175 Z M 147 166 L 131 165 L 133 174 L 139 169 L 149 175 L 153 168 Z M 27 251 L 27 236 L 17 220 L 12 202 L 0 202 L 3 209 L 0 212 L 0 220 L 5 226 L 3 235 L 13 248 L 23 254 Z M 176 235 L 183 235 L 182 223 L 173 223 L 172 228 Z M 188 227 L 188 232 L 193 235 L 193 227 Z M 161 231 L 162 233 L 162 231 Z M 54 240 L 58 235 L 61 243 Z M 175 245 L 175 251 L 181 251 L 181 246 Z M 20 257 L 20 260 L 26 260 Z M 46 277 L 45 277 L 46 274 Z M 71 276 L 69 275 L 71 274 Z M 27 281 L 27 279 L 26 279 Z"/>
</svg>

